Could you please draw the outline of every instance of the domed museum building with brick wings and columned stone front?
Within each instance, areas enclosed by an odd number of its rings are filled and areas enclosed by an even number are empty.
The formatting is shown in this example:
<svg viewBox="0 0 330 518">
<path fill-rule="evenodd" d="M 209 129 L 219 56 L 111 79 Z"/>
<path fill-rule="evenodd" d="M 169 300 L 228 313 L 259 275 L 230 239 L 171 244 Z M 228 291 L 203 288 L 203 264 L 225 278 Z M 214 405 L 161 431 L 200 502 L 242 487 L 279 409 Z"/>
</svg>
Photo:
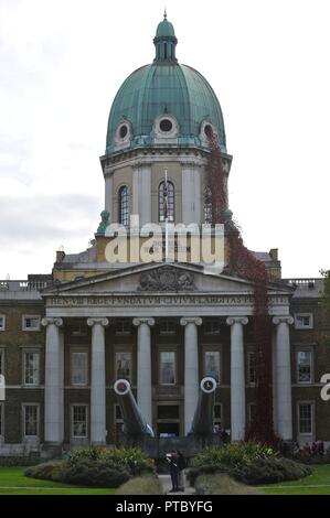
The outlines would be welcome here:
<svg viewBox="0 0 330 518">
<path fill-rule="evenodd" d="M 0 281 L 0 455 L 119 444 L 118 378 L 130 381 L 158 436 L 189 433 L 204 376 L 217 384 L 219 429 L 243 440 L 252 420 L 252 282 L 226 265 L 205 273 L 202 260 L 188 253 L 183 261 L 175 239 L 174 260 L 166 260 L 163 236 L 163 260 L 130 252 L 131 215 L 139 228 L 210 224 L 210 132 L 226 177 L 232 165 L 217 97 L 198 71 L 179 64 L 167 15 L 153 43 L 153 62 L 123 83 L 110 109 L 100 157 L 105 207 L 91 247 L 58 250 L 49 276 Z M 127 229 L 124 262 L 109 260 L 110 224 Z M 224 236 L 224 260 L 227 246 Z M 269 277 L 275 430 L 284 440 L 330 444 L 329 402 L 320 398 L 330 371 L 322 280 L 281 279 L 276 248 L 254 253 Z"/>
</svg>

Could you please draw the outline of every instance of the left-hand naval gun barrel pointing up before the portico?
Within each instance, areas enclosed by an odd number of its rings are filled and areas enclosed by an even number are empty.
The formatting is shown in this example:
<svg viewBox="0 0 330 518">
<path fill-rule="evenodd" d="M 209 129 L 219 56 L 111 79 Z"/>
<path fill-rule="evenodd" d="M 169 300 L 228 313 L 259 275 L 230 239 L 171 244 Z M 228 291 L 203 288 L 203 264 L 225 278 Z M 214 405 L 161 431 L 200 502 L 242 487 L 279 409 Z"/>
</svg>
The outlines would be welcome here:
<svg viewBox="0 0 330 518">
<path fill-rule="evenodd" d="M 153 438 L 155 434 L 152 428 L 147 424 L 141 416 L 130 389 L 129 381 L 127 381 L 127 379 L 117 379 L 114 385 L 114 390 L 120 406 L 125 433 L 130 438 L 142 438 L 143 435 Z"/>
</svg>

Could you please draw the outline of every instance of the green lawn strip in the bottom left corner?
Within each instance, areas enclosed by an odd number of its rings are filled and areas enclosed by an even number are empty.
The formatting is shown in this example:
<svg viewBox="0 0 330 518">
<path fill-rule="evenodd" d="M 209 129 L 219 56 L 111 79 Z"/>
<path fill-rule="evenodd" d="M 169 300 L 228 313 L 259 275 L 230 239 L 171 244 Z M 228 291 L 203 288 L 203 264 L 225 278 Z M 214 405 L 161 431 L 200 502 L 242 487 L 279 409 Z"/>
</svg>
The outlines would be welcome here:
<svg viewBox="0 0 330 518">
<path fill-rule="evenodd" d="M 73 486 L 24 476 L 25 467 L 0 467 L 0 495 L 111 495 L 116 489 Z"/>
</svg>

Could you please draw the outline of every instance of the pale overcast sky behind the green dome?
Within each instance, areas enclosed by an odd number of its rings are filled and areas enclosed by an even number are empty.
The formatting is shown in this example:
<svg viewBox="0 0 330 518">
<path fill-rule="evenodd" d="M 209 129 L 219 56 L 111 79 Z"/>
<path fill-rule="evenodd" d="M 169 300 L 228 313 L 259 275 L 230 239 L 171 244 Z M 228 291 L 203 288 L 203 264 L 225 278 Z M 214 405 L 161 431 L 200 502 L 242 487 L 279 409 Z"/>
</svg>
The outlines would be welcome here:
<svg viewBox="0 0 330 518">
<path fill-rule="evenodd" d="M 230 205 L 284 277 L 330 268 L 329 0 L 167 0 L 179 62 L 221 102 Z M 0 0 L 0 279 L 86 249 L 108 112 L 153 60 L 164 0 Z"/>
</svg>

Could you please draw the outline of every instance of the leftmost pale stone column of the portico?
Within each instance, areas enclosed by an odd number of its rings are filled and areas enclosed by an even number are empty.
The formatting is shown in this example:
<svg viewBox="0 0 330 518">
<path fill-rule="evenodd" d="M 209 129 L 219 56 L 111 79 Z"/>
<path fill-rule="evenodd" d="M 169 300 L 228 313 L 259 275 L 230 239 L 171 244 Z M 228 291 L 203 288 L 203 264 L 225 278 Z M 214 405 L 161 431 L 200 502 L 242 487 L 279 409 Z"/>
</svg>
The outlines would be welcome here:
<svg viewBox="0 0 330 518">
<path fill-rule="evenodd" d="M 46 327 L 45 388 L 44 388 L 44 440 L 47 443 L 63 442 L 63 338 L 60 327 L 62 319 L 42 319 Z"/>
</svg>

